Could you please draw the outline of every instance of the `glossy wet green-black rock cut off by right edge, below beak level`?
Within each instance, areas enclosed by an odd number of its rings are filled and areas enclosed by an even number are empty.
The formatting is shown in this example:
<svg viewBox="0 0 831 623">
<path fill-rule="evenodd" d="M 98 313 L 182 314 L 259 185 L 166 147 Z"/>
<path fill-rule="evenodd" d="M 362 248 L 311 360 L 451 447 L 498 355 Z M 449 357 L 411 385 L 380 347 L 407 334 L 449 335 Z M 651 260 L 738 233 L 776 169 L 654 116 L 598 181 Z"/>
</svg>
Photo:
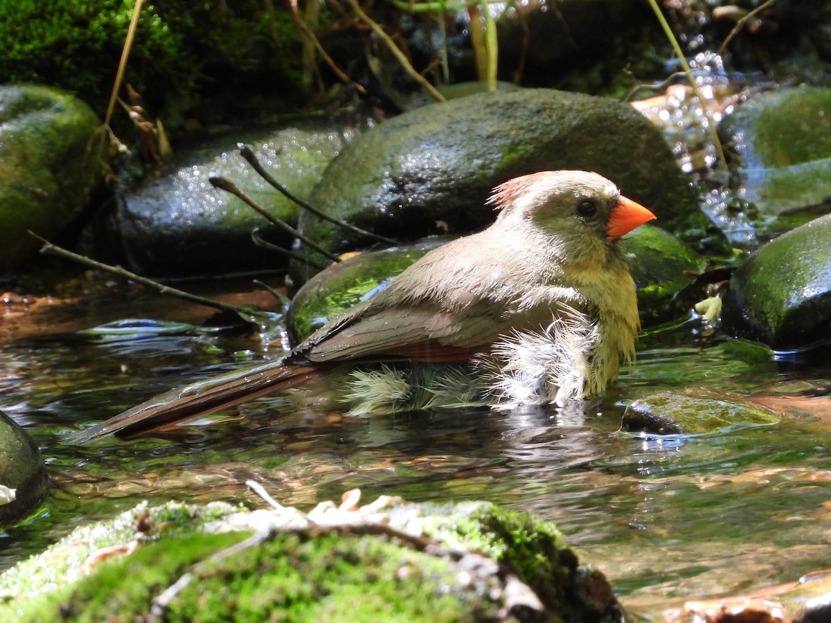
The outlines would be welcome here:
<svg viewBox="0 0 831 623">
<path fill-rule="evenodd" d="M 777 349 L 829 339 L 831 214 L 765 244 L 730 278 L 722 322 Z"/>
</svg>

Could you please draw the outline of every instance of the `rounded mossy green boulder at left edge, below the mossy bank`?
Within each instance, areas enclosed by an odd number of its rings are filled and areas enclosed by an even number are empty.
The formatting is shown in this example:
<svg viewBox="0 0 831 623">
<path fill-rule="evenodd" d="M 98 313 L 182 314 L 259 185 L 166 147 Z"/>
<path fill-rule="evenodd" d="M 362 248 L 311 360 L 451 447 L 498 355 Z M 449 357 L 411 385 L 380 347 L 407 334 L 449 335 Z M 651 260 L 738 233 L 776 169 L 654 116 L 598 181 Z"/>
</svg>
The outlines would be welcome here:
<svg viewBox="0 0 831 623">
<path fill-rule="evenodd" d="M 81 100 L 46 86 L 0 86 L 0 270 L 53 238 L 101 180 L 106 136 Z M 101 140 L 99 140 L 101 139 Z"/>
</svg>

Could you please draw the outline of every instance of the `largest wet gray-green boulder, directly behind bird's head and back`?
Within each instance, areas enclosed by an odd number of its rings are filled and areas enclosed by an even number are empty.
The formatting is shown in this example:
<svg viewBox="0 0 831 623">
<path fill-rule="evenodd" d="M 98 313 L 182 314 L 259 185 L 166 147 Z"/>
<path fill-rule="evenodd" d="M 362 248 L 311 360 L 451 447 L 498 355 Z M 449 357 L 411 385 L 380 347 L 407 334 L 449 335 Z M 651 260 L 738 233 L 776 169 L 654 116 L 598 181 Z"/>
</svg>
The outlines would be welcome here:
<svg viewBox="0 0 831 623">
<path fill-rule="evenodd" d="M 545 169 L 597 171 L 664 227 L 699 236 L 706 227 L 696 191 L 642 115 L 619 101 L 543 89 L 483 93 L 388 120 L 332 160 L 310 203 L 391 238 L 436 233 L 444 228 L 437 222 L 459 235 L 493 221 L 485 200 L 494 186 Z M 335 252 L 367 243 L 306 213 L 301 228 Z M 295 285 L 312 271 L 293 263 Z"/>
</svg>

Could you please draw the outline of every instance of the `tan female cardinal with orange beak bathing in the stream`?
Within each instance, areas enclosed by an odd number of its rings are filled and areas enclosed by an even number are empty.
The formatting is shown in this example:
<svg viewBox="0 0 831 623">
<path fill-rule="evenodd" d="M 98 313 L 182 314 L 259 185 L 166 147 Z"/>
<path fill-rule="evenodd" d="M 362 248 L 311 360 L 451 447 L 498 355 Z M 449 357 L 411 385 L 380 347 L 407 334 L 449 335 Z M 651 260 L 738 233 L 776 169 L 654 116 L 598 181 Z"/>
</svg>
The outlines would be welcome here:
<svg viewBox="0 0 831 623">
<path fill-rule="evenodd" d="M 344 385 L 352 403 L 376 399 L 379 381 L 414 378 L 401 370 L 423 378 L 471 361 L 433 378 L 452 390 L 460 375 L 479 375 L 491 402 L 601 395 L 634 358 L 640 329 L 619 240 L 655 214 L 579 170 L 509 179 L 488 201 L 498 210 L 489 227 L 426 253 L 283 359 L 170 390 L 73 439 L 164 432 L 333 370 L 352 370 Z"/>
</svg>

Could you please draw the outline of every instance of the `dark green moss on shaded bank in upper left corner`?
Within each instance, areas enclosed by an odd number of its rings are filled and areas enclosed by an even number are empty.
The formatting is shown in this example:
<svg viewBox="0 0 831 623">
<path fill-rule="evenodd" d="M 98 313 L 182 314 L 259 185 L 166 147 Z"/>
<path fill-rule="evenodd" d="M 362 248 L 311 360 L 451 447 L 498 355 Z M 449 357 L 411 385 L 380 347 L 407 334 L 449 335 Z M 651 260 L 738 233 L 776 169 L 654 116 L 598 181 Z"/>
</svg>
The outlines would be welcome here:
<svg viewBox="0 0 831 623">
<path fill-rule="evenodd" d="M 37 0 L 0 0 L 0 82 L 59 86 L 103 115 L 133 6 L 52 2 L 44 11 Z M 125 81 L 170 127 L 194 96 L 263 84 L 293 92 L 296 57 L 283 44 L 296 37 L 288 11 L 270 15 L 258 0 L 145 4 Z"/>
</svg>

